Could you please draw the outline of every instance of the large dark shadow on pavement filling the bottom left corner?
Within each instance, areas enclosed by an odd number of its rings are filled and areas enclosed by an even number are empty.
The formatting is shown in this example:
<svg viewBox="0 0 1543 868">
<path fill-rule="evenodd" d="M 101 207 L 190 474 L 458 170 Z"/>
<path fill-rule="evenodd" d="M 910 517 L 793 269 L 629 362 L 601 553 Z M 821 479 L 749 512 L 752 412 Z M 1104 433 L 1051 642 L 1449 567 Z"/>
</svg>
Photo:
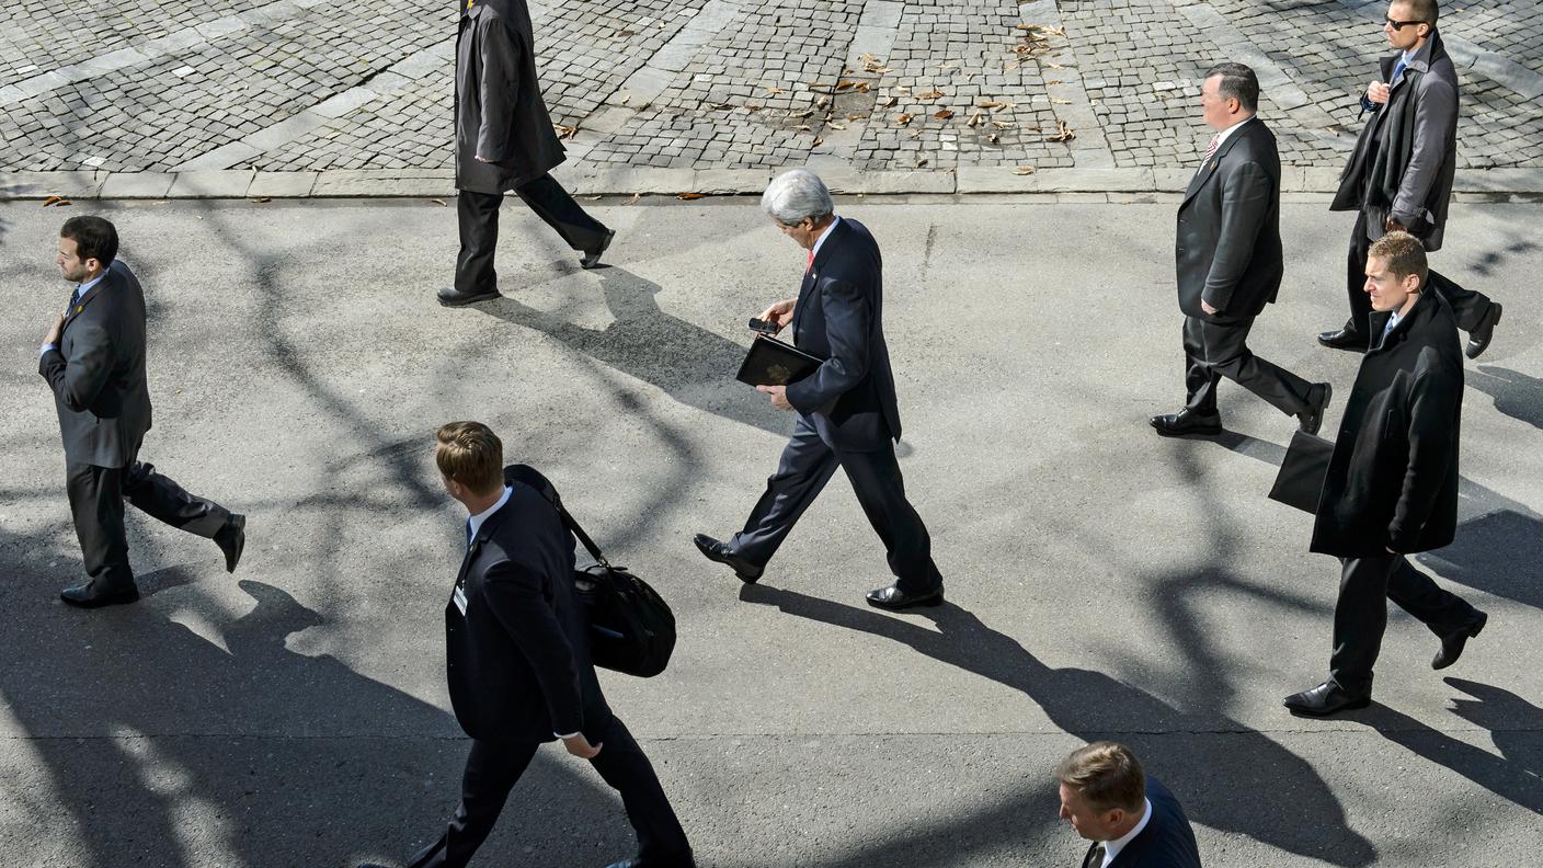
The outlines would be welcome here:
<svg viewBox="0 0 1543 868">
<path fill-rule="evenodd" d="M 12 857 L 31 863 L 42 839 L 54 856 L 40 859 L 77 868 L 352 868 L 404 859 L 449 819 L 466 755 L 454 718 L 335 656 L 292 650 L 324 618 L 287 592 L 241 581 L 253 609 L 235 616 L 171 567 L 140 576 L 139 604 L 79 612 L 42 593 L 52 570 L 32 564 L 40 539 L 0 536 L 0 567 L 22 579 L 0 615 L 0 701 L 22 735 L 6 758 L 35 780 L 6 788 L 5 806 L 37 817 L 8 831 Z M 548 865 L 571 863 L 554 845 L 580 831 L 623 853 L 614 798 L 586 783 L 539 758 L 515 802 L 548 828 L 520 817 L 495 839 L 515 826 Z M 559 792 L 563 814 L 588 822 L 555 817 Z M 549 831 L 565 823 L 571 834 Z M 517 843 L 486 849 L 508 857 Z"/>
</svg>

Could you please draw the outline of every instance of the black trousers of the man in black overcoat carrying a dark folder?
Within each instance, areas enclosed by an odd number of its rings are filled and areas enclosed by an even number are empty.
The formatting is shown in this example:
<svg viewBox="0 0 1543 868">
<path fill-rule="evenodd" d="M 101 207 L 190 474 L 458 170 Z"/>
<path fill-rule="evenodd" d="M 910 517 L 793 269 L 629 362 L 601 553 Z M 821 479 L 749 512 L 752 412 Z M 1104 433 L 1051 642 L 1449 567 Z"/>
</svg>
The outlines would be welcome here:
<svg viewBox="0 0 1543 868">
<path fill-rule="evenodd" d="M 1477 610 L 1441 588 L 1403 554 L 1341 558 L 1339 601 L 1329 676 L 1356 695 L 1372 693 L 1372 667 L 1387 630 L 1387 601 L 1446 636 L 1472 622 Z"/>
</svg>

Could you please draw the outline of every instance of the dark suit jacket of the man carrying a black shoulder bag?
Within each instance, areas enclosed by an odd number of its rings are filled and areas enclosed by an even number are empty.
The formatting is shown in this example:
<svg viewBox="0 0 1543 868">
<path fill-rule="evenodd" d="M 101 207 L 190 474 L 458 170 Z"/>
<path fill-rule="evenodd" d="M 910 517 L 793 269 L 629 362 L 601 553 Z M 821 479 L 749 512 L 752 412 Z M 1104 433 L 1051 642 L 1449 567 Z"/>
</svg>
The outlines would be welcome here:
<svg viewBox="0 0 1543 868">
<path fill-rule="evenodd" d="M 572 573 L 574 537 L 557 510 L 514 482 L 455 579 L 466 615 L 454 590 L 444 609 L 451 706 L 472 738 L 551 741 L 557 732 L 585 732 L 593 740 L 609 724 Z"/>
</svg>

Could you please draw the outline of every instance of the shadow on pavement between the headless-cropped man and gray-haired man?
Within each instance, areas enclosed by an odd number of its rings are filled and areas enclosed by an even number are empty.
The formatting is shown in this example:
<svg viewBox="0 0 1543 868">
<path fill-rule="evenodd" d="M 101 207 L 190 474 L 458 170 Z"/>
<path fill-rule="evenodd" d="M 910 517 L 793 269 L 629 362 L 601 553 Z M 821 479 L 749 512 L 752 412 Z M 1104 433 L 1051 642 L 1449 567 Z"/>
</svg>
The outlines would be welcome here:
<svg viewBox="0 0 1543 868">
<path fill-rule="evenodd" d="M 514 298 L 478 306 L 508 323 L 551 335 L 576 352 L 650 383 L 671 398 L 751 425 L 779 437 L 793 429 L 788 412 L 772 409 L 734 372 L 747 346 L 671 317 L 659 307 L 659 284 L 616 266 L 593 272 L 600 278 L 613 321 L 603 329 L 577 326 Z"/>
</svg>

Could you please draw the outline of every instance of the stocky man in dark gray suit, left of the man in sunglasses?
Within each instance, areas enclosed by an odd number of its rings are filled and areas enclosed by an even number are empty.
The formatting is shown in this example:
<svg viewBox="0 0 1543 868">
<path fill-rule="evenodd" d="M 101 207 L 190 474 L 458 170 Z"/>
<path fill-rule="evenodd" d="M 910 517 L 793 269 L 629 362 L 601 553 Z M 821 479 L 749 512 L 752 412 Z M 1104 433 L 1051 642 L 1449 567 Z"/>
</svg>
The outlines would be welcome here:
<svg viewBox="0 0 1543 868">
<path fill-rule="evenodd" d="M 1329 406 L 1329 383 L 1308 383 L 1256 357 L 1247 343 L 1284 270 L 1281 158 L 1275 134 L 1254 117 L 1258 105 L 1259 79 L 1248 66 L 1219 63 L 1205 73 L 1200 107 L 1216 134 L 1179 205 L 1174 242 L 1188 400 L 1179 412 L 1151 417 L 1165 437 L 1221 432 L 1222 377 L 1295 415 L 1308 432 L 1318 431 Z"/>
</svg>

